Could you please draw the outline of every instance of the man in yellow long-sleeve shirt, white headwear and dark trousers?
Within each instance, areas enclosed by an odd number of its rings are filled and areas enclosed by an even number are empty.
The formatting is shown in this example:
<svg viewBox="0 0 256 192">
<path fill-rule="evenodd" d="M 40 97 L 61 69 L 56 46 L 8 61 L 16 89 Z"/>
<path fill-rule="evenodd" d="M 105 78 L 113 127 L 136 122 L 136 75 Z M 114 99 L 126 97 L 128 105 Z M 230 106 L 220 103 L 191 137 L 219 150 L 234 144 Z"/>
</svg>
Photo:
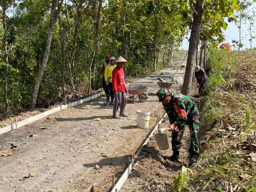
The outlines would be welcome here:
<svg viewBox="0 0 256 192">
<path fill-rule="evenodd" d="M 111 97 L 111 104 L 114 104 L 114 92 L 112 88 L 112 71 L 116 67 L 116 57 L 111 57 L 110 58 L 110 65 L 106 66 L 105 69 L 105 83 L 106 83 L 106 95 L 107 95 L 107 103 L 105 104 L 106 106 L 109 105 L 109 98 Z"/>
</svg>

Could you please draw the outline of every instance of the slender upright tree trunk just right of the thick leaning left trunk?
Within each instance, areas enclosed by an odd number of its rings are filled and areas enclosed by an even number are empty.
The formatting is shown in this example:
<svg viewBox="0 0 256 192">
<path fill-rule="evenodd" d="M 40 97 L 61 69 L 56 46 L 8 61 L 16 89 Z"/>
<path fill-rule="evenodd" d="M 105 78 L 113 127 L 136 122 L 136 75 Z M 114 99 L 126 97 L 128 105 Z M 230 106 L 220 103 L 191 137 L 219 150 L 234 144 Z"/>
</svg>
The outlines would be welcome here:
<svg viewBox="0 0 256 192">
<path fill-rule="evenodd" d="M 62 55 L 62 65 L 61 65 L 61 75 L 62 75 L 62 96 L 65 97 L 65 74 L 64 74 L 64 68 L 65 68 L 65 60 L 66 60 L 66 45 L 65 45 L 65 39 L 64 34 L 62 34 L 61 29 L 61 17 L 59 17 L 59 36 L 61 40 L 61 55 Z"/>
</svg>

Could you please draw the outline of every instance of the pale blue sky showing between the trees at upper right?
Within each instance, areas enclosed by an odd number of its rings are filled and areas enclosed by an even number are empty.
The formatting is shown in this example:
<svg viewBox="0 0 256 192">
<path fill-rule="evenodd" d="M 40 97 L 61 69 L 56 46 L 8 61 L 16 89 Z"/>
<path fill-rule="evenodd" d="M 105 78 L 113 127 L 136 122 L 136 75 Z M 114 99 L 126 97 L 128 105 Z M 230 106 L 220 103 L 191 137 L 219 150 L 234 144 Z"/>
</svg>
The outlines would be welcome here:
<svg viewBox="0 0 256 192">
<path fill-rule="evenodd" d="M 256 6 L 253 7 L 253 9 L 256 11 Z M 251 10 L 252 11 L 252 10 Z M 227 22 L 227 19 L 225 19 Z M 227 22 L 227 29 L 226 31 L 224 31 L 226 40 L 225 43 L 230 43 L 232 45 L 232 40 L 239 39 L 239 30 L 236 26 L 236 24 L 234 22 Z M 254 23 L 254 26 L 256 26 L 256 22 Z M 247 26 L 245 24 L 242 25 L 241 27 L 241 36 L 244 38 L 242 40 L 242 44 L 244 44 L 244 46 L 242 47 L 242 50 L 248 48 L 250 49 L 250 41 L 249 41 L 249 33 L 247 30 Z M 256 36 L 256 30 L 254 30 L 254 36 Z M 256 39 L 253 40 L 253 44 L 252 47 L 256 47 Z M 189 49 L 189 42 L 187 39 L 184 39 L 182 42 L 182 46 L 180 47 L 180 49 L 184 49 L 184 50 L 188 50 Z"/>
</svg>

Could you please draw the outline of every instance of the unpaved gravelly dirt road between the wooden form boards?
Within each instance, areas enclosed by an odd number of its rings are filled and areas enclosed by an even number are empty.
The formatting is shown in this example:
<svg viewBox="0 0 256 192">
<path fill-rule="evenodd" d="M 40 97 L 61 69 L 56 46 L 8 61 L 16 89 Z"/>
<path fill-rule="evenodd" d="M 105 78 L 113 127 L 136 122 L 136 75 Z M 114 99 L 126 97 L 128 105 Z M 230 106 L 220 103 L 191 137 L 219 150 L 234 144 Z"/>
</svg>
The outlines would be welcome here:
<svg viewBox="0 0 256 192">
<path fill-rule="evenodd" d="M 172 72 L 165 72 L 166 78 L 171 76 Z M 108 191 L 111 174 L 121 175 L 128 155 L 136 151 L 157 117 L 164 113 L 154 96 L 157 84 L 146 80 L 131 83 L 150 86 L 150 97 L 146 103 L 128 102 L 128 118 L 109 118 L 112 106 L 104 106 L 103 96 L 0 135 L 1 150 L 17 145 L 13 155 L 0 158 L 0 192 L 87 192 L 92 185 L 99 191 Z M 139 109 L 151 111 L 150 128 L 136 127 Z M 32 134 L 37 136 L 30 137 Z M 29 173 L 37 176 L 24 179 Z"/>
</svg>

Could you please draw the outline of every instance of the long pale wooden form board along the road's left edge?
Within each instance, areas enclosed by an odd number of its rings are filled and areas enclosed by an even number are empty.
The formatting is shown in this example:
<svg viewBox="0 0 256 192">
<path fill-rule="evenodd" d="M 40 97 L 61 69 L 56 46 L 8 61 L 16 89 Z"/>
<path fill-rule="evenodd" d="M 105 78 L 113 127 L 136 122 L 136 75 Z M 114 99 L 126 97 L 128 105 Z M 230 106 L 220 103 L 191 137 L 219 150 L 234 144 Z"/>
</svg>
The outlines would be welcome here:
<svg viewBox="0 0 256 192">
<path fill-rule="evenodd" d="M 129 86 L 129 83 L 126 84 L 126 86 Z M 46 116 L 49 116 L 49 115 L 52 115 L 53 113 L 56 113 L 58 111 L 62 111 L 64 109 L 67 109 L 67 108 L 71 108 L 73 106 L 76 106 L 76 105 L 79 105 L 79 104 L 82 104 L 84 102 L 87 102 L 87 101 L 90 101 L 90 100 L 93 100 L 95 98 L 98 98 L 99 96 L 103 95 L 105 92 L 101 92 L 101 93 L 97 93 L 97 94 L 94 94 L 92 96 L 89 96 L 87 98 L 84 98 L 84 99 L 80 99 L 78 101 L 74 101 L 72 103 L 69 103 L 69 104 L 66 104 L 66 105 L 61 105 L 61 106 L 58 106 L 56 108 L 53 108 L 53 109 L 50 109 L 48 111 L 45 111 L 43 113 L 39 113 L 38 115 L 35 115 L 35 116 L 32 116 L 30 118 L 27 118 L 25 120 L 22 120 L 22 121 L 19 121 L 17 123 L 13 123 L 11 125 L 8 125 L 8 126 L 5 126 L 5 127 L 2 127 L 0 128 L 0 135 L 2 135 L 3 133 L 7 133 L 9 131 L 12 131 L 12 130 L 15 130 L 15 129 L 18 129 L 24 125 L 27 125 L 29 123 L 32 123 L 36 120 L 39 120 L 41 118 L 44 118 Z"/>
</svg>

